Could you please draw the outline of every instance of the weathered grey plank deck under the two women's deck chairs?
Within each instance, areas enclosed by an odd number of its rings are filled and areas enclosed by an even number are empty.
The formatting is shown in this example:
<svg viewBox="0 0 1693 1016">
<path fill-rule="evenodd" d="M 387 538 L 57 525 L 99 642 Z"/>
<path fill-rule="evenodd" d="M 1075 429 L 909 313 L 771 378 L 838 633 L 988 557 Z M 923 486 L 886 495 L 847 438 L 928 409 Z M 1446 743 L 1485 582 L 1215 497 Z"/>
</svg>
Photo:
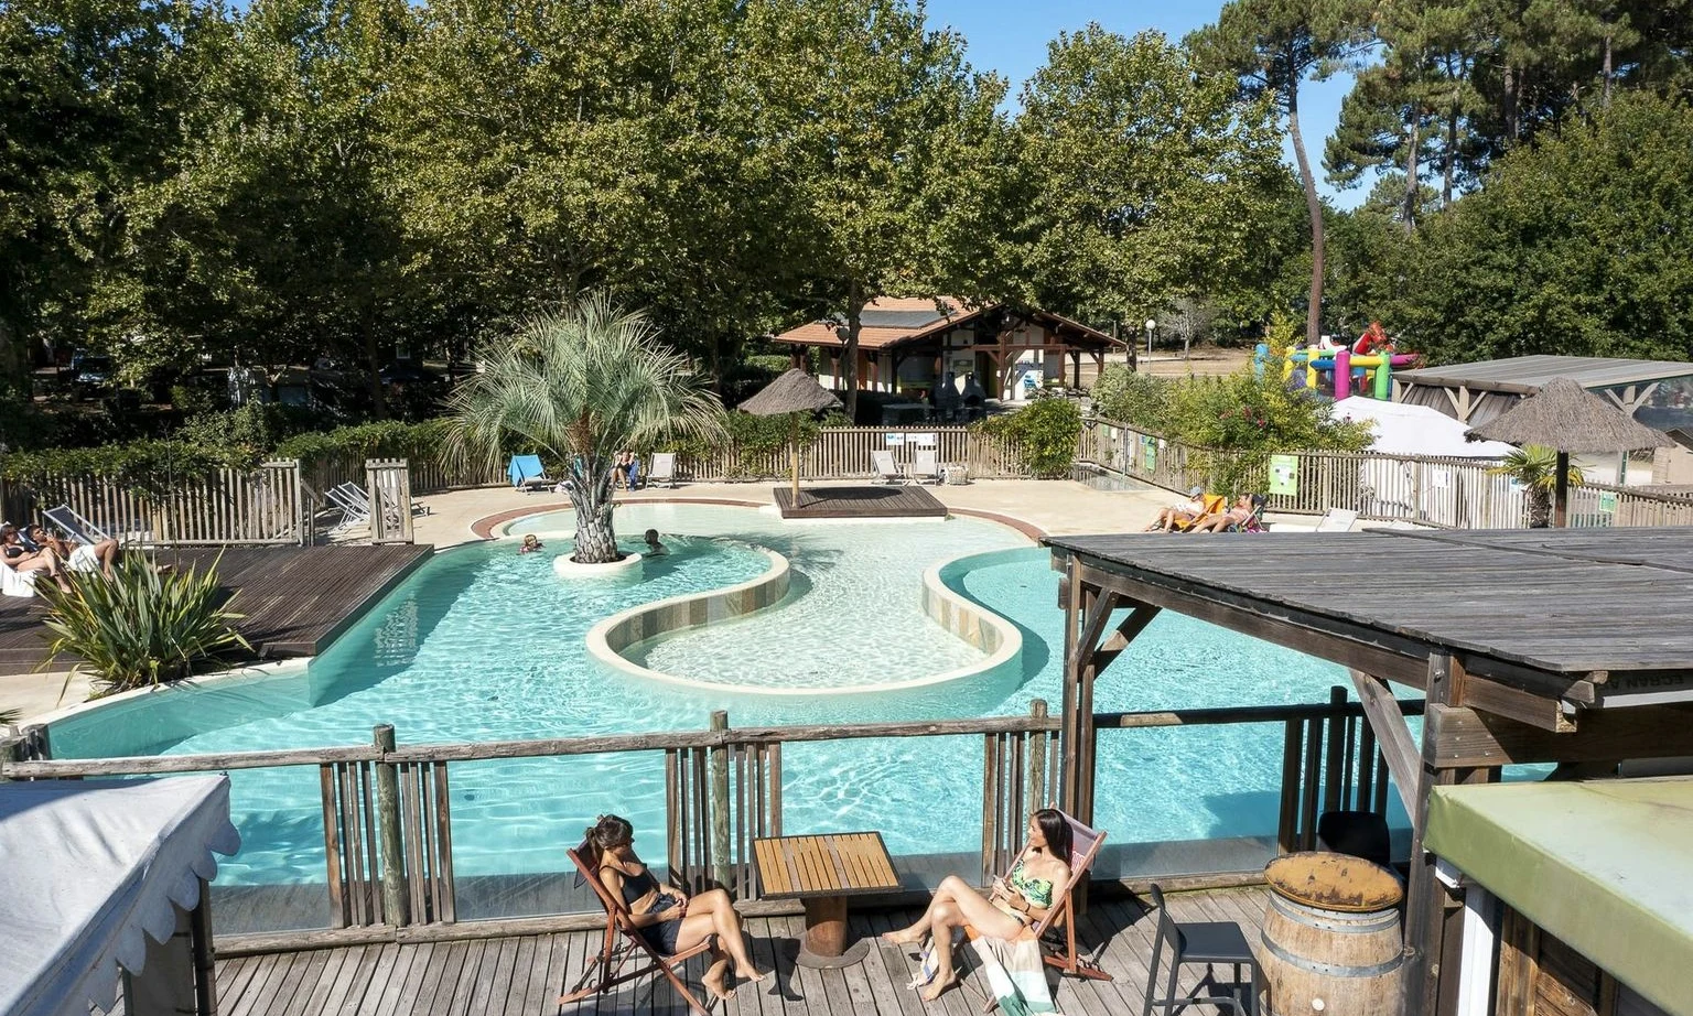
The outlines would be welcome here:
<svg viewBox="0 0 1693 1016">
<path fill-rule="evenodd" d="M 1178 921 L 1239 921 L 1249 941 L 1263 918 L 1261 889 L 1221 889 L 1170 896 Z M 852 914 L 855 935 L 877 935 L 906 925 L 916 911 Z M 963 950 L 965 986 L 924 1006 L 904 986 L 918 964 L 906 950 L 875 945 L 863 964 L 845 970 L 811 970 L 794 964 L 802 918 L 750 918 L 753 960 L 775 977 L 742 987 L 718 1016 L 975 1016 L 985 979 Z M 1136 901 L 1095 901 L 1080 921 L 1084 948 L 1094 950 L 1114 980 L 1058 977 L 1058 1011 L 1068 1016 L 1139 1013 L 1146 991 L 1155 921 Z M 686 1004 L 653 979 L 625 984 L 574 1008 L 557 997 L 581 977 L 599 935 L 589 931 L 530 935 L 479 941 L 369 945 L 220 960 L 218 1004 L 223 1016 L 682 1016 Z M 704 960 L 692 960 L 687 980 L 698 987 Z M 1192 989 L 1204 969 L 1183 975 Z M 1217 970 L 1227 980 L 1227 969 Z M 701 992 L 701 997 L 703 992 Z M 1209 1009 L 1195 1009 L 1204 1013 Z"/>
</svg>

